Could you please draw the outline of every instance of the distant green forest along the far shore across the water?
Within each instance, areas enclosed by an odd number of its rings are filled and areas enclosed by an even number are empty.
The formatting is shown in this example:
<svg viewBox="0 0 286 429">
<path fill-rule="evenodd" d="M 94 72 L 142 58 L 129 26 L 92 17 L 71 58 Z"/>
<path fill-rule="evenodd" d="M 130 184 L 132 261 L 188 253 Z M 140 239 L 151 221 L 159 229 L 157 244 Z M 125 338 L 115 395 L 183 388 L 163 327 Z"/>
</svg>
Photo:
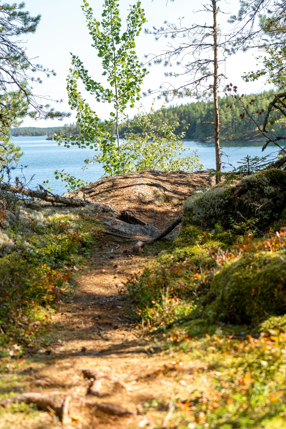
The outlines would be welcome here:
<svg viewBox="0 0 286 429">
<path fill-rule="evenodd" d="M 263 124 L 265 118 L 265 112 L 261 115 L 257 114 L 256 111 L 268 108 L 268 104 L 273 99 L 270 92 L 263 92 L 261 94 L 248 94 L 242 98 L 245 105 L 249 105 L 248 109 L 250 113 L 253 113 L 253 118 L 259 120 L 259 124 Z M 255 100 L 254 103 L 251 100 Z M 251 103 L 251 104 L 250 104 Z M 228 107 L 227 107 L 228 106 Z M 247 115 L 241 118 L 241 114 L 244 113 L 243 106 L 238 100 L 235 100 L 231 96 L 219 98 L 220 108 L 220 138 L 222 140 L 251 140 L 259 137 L 257 133 L 256 124 Z M 171 106 L 163 109 L 163 115 L 167 117 L 173 117 L 175 121 L 178 121 L 180 127 L 177 132 L 180 133 L 184 127 L 186 129 L 186 139 L 205 141 L 211 139 L 214 134 L 214 125 L 210 122 L 214 122 L 214 108 L 213 104 L 205 101 L 197 101 L 193 103 L 181 104 L 181 106 Z M 162 115 L 155 117 L 155 123 L 162 118 Z M 128 132 L 128 124 L 132 124 L 132 119 L 127 121 L 126 124 L 121 125 L 119 132 L 120 136 L 124 136 Z M 188 125 L 189 124 L 189 125 Z M 275 124 L 274 127 L 275 135 L 284 135 L 285 129 L 283 122 Z M 140 132 L 140 129 L 135 128 L 135 132 Z M 115 134 L 115 126 L 111 128 L 111 132 Z M 53 136 L 55 134 L 61 134 L 63 137 L 79 136 L 80 128 L 77 124 L 64 125 L 61 128 L 58 127 L 47 127 L 47 128 L 36 128 L 36 127 L 20 127 L 12 130 L 12 136 Z"/>
</svg>

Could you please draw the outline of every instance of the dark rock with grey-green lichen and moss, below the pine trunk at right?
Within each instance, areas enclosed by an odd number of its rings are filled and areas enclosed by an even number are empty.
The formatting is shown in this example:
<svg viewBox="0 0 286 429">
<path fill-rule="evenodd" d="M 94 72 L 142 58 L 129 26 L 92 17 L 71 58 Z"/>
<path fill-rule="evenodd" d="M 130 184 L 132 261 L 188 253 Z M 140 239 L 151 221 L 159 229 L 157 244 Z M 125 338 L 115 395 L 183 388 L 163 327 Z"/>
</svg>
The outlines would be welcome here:
<svg viewBox="0 0 286 429">
<path fill-rule="evenodd" d="M 228 229 L 233 222 L 253 221 L 260 229 L 271 225 L 286 207 L 286 172 L 269 169 L 243 178 L 235 187 L 192 195 L 184 205 L 187 225 Z"/>
</svg>

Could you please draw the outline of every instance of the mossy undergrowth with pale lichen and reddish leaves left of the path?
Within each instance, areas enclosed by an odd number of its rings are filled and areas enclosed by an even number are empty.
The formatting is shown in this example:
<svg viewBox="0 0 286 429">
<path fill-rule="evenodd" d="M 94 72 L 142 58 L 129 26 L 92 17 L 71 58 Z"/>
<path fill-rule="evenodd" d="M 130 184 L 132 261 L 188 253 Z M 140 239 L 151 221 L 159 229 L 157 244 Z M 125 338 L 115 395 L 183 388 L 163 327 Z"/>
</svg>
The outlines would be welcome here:
<svg viewBox="0 0 286 429">
<path fill-rule="evenodd" d="M 50 316 L 96 243 L 87 209 L 18 202 L 0 215 L 0 347 L 45 342 Z M 9 353 L 17 354 L 12 349 Z"/>
</svg>

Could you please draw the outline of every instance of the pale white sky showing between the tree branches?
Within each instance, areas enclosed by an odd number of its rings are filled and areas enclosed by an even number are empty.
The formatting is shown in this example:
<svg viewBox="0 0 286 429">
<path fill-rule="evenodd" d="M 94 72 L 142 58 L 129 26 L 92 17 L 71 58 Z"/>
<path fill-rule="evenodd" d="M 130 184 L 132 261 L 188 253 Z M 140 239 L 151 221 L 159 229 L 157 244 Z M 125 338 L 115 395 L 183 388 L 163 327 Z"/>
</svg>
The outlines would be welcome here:
<svg viewBox="0 0 286 429">
<path fill-rule="evenodd" d="M 34 86 L 34 93 L 41 94 L 43 96 L 51 97 L 53 100 L 63 99 L 63 103 L 56 104 L 54 107 L 61 111 L 70 112 L 68 105 L 68 97 L 66 92 L 66 76 L 69 73 L 69 67 L 71 65 L 71 53 L 78 55 L 83 61 L 84 66 L 89 70 L 90 76 L 98 81 L 103 82 L 101 76 L 101 62 L 100 58 L 97 57 L 96 49 L 91 47 L 92 39 L 88 33 L 86 27 L 85 18 L 81 10 L 82 0 L 26 0 L 26 10 L 29 10 L 31 15 L 41 14 L 42 19 L 39 23 L 39 27 L 35 34 L 28 36 L 25 41 L 27 46 L 27 54 L 30 58 L 37 57 L 35 62 L 41 63 L 43 66 L 49 69 L 54 69 L 57 73 L 56 77 L 51 76 L 49 79 L 43 79 L 42 85 Z M 102 0 L 89 0 L 89 5 L 94 10 L 94 16 L 100 20 L 102 13 Z M 120 4 L 120 12 L 122 19 L 127 15 L 130 0 L 118 0 Z M 145 17 L 147 22 L 146 28 L 160 27 L 163 25 L 165 20 L 170 22 L 178 22 L 178 18 L 184 16 L 186 25 L 191 24 L 205 24 L 205 22 L 211 22 L 211 15 L 206 12 L 195 13 L 196 10 L 200 9 L 200 2 L 194 0 L 175 0 L 174 2 L 167 0 L 141 0 L 141 7 L 145 9 Z M 239 9 L 239 0 L 221 0 L 220 7 L 224 12 L 234 14 Z M 228 15 L 220 14 L 220 22 L 224 31 L 228 30 L 229 24 L 226 20 Z M 26 36 L 25 36 L 26 37 Z M 156 42 L 154 36 L 146 35 L 142 31 L 137 38 L 136 42 L 136 53 L 139 60 L 146 62 L 145 54 L 159 54 L 166 49 L 166 39 L 160 39 Z M 251 93 L 263 91 L 263 82 L 256 83 L 244 83 L 241 79 L 242 74 L 246 71 L 256 69 L 256 59 L 253 52 L 238 53 L 227 58 L 226 69 L 223 69 L 223 73 L 226 73 L 226 82 L 232 82 L 238 86 L 240 93 Z M 146 76 L 143 85 L 141 85 L 142 91 L 157 90 L 163 82 L 166 82 L 164 77 L 163 66 L 151 66 L 148 68 L 149 74 Z M 177 78 L 180 82 L 180 79 Z M 187 77 L 180 83 L 187 83 Z M 90 103 L 91 108 L 101 119 L 109 118 L 109 112 L 111 111 L 111 105 L 100 104 L 93 101 L 92 96 L 82 93 L 87 102 Z M 151 107 L 152 99 L 154 96 L 148 96 L 141 99 L 141 103 L 148 110 Z M 194 101 L 191 98 L 185 98 L 183 100 L 173 100 L 171 104 L 182 104 Z M 156 108 L 160 108 L 163 104 L 163 100 L 158 100 L 155 103 Z M 127 113 L 130 117 L 137 113 L 135 106 L 134 109 L 127 109 Z M 69 119 L 65 119 L 63 122 L 57 120 L 47 121 L 33 121 L 30 118 L 26 118 L 22 126 L 27 127 L 52 127 L 62 126 L 64 123 L 70 123 L 75 121 L 75 112 L 72 112 L 72 116 Z"/>
</svg>

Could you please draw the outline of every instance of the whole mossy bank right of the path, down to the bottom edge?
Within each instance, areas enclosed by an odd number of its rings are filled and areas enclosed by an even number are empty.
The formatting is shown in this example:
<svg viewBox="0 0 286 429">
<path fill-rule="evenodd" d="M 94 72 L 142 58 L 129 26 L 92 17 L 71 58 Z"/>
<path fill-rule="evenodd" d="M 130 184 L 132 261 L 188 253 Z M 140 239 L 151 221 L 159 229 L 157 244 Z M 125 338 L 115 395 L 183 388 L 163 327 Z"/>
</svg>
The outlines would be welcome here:
<svg viewBox="0 0 286 429">
<path fill-rule="evenodd" d="M 172 427 L 285 426 L 285 207 L 279 170 L 199 191 L 175 241 L 127 284 L 144 335 L 200 362 Z"/>
</svg>

